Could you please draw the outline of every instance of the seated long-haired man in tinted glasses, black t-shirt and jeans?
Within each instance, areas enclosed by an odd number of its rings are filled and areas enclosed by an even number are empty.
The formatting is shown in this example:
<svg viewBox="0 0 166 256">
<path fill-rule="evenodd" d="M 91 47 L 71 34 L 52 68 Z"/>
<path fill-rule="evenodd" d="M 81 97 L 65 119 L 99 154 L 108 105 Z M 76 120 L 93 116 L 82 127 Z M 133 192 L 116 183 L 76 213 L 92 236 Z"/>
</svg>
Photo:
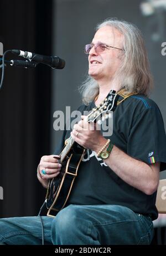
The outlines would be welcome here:
<svg viewBox="0 0 166 256">
<path fill-rule="evenodd" d="M 113 112 L 113 134 L 91 129 L 86 116 L 64 131 L 55 154 L 43 156 L 38 180 L 48 187 L 59 175 L 60 151 L 71 138 L 86 149 L 66 206 L 55 218 L 43 216 L 47 244 L 151 244 L 159 171 L 166 167 L 166 137 L 152 89 L 146 48 L 133 24 L 107 19 L 97 26 L 89 54 L 89 76 L 81 86 L 82 114 L 115 90 L 120 101 Z M 124 96 L 125 95 L 125 96 Z M 123 97 L 124 96 L 124 97 Z M 4 244 L 40 244 L 38 217 L 0 220 Z"/>
</svg>

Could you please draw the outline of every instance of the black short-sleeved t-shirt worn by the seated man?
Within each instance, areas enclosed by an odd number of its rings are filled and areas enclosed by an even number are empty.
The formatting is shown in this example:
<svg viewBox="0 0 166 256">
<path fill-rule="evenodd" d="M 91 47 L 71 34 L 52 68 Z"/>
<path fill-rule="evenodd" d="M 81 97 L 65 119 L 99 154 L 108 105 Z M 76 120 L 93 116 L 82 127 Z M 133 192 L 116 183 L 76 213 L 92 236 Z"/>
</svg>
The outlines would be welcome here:
<svg viewBox="0 0 166 256">
<path fill-rule="evenodd" d="M 79 110 L 83 113 L 93 107 L 94 102 L 80 106 Z M 55 153 L 60 153 L 69 137 L 70 131 L 64 131 Z M 157 104 L 151 99 L 133 95 L 118 105 L 113 112 L 113 134 L 106 138 L 127 155 L 148 164 L 160 162 L 160 170 L 166 169 L 164 123 Z M 94 151 L 87 150 L 66 205 L 118 204 L 155 219 L 158 217 L 156 194 L 149 196 L 128 185 Z"/>
</svg>

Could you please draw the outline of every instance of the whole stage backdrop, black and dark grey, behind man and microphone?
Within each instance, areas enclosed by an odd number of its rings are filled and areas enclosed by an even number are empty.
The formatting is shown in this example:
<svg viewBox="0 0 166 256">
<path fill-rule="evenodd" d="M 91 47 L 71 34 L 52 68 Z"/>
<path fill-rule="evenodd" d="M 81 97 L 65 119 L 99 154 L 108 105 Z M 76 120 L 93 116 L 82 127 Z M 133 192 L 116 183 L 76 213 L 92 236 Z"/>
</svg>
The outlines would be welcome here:
<svg viewBox="0 0 166 256">
<path fill-rule="evenodd" d="M 61 132 L 53 129 L 53 114 L 81 104 L 77 86 L 85 79 L 84 45 L 91 42 L 95 26 L 108 17 L 133 22 L 146 40 L 154 75 L 151 98 L 164 122 L 166 12 L 143 16 L 140 0 L 1 0 L 0 42 L 8 49 L 58 55 L 63 70 L 45 65 L 35 69 L 7 66 L 0 90 L 0 217 L 33 216 L 45 198 L 36 170 L 43 155 L 53 153 Z M 17 59 L 7 54 L 7 59 Z M 1 70 L 0 70 L 1 74 Z M 166 177 L 165 172 L 160 177 Z"/>
</svg>

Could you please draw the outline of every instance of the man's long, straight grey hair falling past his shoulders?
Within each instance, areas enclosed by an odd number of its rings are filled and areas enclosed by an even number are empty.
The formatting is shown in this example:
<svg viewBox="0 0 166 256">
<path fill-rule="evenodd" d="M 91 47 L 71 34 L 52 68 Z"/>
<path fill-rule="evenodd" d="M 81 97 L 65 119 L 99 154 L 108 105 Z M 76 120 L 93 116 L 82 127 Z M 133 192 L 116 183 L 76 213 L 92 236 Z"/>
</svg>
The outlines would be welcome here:
<svg viewBox="0 0 166 256">
<path fill-rule="evenodd" d="M 153 88 L 153 79 L 140 30 L 126 21 L 106 19 L 97 25 L 96 31 L 105 26 L 117 29 L 124 38 L 122 64 L 113 77 L 113 83 L 120 84 L 121 89 L 124 88 L 128 93 L 148 96 Z M 89 75 L 79 89 L 85 105 L 89 105 L 99 91 L 97 81 Z"/>
</svg>

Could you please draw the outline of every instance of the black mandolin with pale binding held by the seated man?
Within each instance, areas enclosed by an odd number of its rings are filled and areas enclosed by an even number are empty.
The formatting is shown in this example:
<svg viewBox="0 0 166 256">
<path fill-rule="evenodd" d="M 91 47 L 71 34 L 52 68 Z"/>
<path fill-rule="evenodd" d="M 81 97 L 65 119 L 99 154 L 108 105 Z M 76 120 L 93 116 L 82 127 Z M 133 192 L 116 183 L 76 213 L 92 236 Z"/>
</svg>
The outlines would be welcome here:
<svg viewBox="0 0 166 256">
<path fill-rule="evenodd" d="M 111 111 L 116 109 L 118 97 L 119 95 L 116 94 L 116 91 L 111 90 L 102 103 L 92 109 L 90 114 L 87 115 L 86 121 L 101 124 L 102 121 L 111 116 Z M 59 159 L 59 163 L 62 165 L 61 171 L 58 176 L 50 179 L 46 193 L 47 216 L 50 217 L 54 217 L 65 207 L 78 174 L 82 157 L 86 151 L 71 136 L 66 140 L 65 144 Z"/>
</svg>

